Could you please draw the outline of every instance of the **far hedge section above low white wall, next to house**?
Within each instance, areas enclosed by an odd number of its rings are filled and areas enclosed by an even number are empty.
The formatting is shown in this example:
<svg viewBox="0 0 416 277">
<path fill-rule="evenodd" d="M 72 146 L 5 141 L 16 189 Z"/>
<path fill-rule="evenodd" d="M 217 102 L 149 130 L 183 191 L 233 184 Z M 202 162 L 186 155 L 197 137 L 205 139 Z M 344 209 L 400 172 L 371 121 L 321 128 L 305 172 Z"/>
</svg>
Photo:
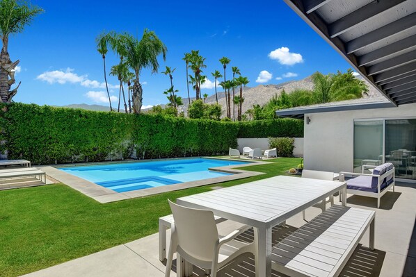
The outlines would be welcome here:
<svg viewBox="0 0 416 277">
<path fill-rule="evenodd" d="M 303 120 L 299 119 L 265 119 L 238 124 L 238 137 L 303 137 Z"/>
</svg>

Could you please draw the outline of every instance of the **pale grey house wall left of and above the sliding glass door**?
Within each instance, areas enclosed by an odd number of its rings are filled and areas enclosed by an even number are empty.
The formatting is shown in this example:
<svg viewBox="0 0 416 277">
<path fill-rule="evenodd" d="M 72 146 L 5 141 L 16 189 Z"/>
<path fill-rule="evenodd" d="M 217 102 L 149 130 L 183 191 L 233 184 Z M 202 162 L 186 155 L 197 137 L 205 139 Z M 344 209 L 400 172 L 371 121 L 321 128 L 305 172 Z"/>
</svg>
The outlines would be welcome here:
<svg viewBox="0 0 416 277">
<path fill-rule="evenodd" d="M 416 103 L 397 108 L 305 114 L 304 168 L 322 171 L 353 171 L 354 119 L 416 117 Z"/>
</svg>

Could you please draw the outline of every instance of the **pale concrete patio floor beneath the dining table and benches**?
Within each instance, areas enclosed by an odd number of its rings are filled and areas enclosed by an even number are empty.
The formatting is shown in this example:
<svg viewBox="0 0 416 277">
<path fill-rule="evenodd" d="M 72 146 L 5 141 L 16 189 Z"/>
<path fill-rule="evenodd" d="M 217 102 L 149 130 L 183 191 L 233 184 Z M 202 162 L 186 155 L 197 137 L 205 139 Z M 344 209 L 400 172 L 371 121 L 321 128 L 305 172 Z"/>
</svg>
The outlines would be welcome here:
<svg viewBox="0 0 416 277">
<path fill-rule="evenodd" d="M 376 211 L 376 250 L 367 248 L 367 230 L 340 276 L 416 276 L 415 199 L 416 186 L 408 183 L 398 183 L 396 192 L 387 192 L 381 199 L 380 209 L 375 208 L 376 199 L 349 195 L 349 206 Z M 307 219 L 312 219 L 319 212 L 319 208 L 307 209 Z M 287 221 L 285 228 L 274 228 L 273 244 L 304 223 L 299 214 Z M 230 221 L 218 224 L 220 233 L 233 228 Z M 253 230 L 248 230 L 241 239 L 251 240 L 252 236 Z M 159 261 L 158 243 L 156 233 L 25 276 L 164 276 L 165 263 Z M 282 276 L 275 271 L 272 275 Z M 176 274 L 172 272 L 171 276 Z M 204 276 L 204 271 L 194 267 L 193 276 Z M 241 255 L 219 271 L 218 276 L 255 276 L 253 255 Z"/>
</svg>

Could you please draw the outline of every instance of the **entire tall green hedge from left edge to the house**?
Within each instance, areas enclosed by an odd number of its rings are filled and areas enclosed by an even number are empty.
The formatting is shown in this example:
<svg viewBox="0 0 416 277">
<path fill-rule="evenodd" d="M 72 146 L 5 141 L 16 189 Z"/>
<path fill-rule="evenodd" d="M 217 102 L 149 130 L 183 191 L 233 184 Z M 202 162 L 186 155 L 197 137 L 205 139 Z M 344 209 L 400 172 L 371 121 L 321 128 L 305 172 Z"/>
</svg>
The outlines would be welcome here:
<svg viewBox="0 0 416 277">
<path fill-rule="evenodd" d="M 237 137 L 303 136 L 302 121 L 292 119 L 234 123 L 24 103 L 0 110 L 0 124 L 8 158 L 34 164 L 127 158 L 134 150 L 137 158 L 211 156 L 236 147 Z"/>
</svg>

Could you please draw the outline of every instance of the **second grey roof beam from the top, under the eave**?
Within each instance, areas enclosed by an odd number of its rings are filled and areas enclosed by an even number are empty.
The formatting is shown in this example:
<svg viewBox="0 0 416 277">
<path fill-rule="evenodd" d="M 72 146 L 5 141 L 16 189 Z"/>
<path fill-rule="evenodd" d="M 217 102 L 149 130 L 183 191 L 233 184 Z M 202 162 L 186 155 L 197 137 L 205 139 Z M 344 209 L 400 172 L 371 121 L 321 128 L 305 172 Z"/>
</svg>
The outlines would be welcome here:
<svg viewBox="0 0 416 277">
<path fill-rule="evenodd" d="M 346 31 L 351 30 L 358 24 L 375 17 L 381 12 L 397 6 L 406 0 L 389 0 L 389 1 L 372 1 L 367 5 L 351 12 L 337 21 L 328 25 L 329 35 L 331 38 L 337 37 Z"/>
</svg>

